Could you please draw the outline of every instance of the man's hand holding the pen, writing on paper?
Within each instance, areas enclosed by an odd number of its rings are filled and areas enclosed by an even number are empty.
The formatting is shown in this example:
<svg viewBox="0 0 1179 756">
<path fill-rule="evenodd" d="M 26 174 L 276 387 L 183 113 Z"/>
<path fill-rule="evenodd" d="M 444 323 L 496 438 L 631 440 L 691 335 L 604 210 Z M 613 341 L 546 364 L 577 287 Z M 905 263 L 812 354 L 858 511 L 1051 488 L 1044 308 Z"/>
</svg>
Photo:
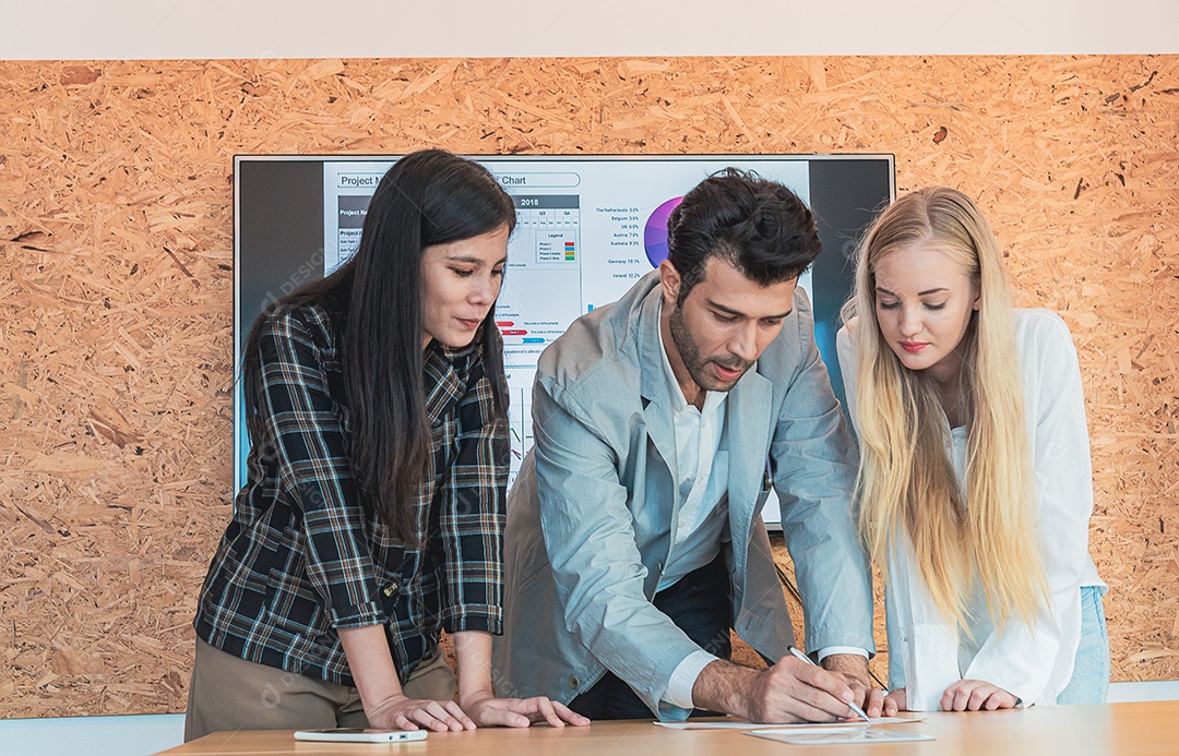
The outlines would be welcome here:
<svg viewBox="0 0 1179 756">
<path fill-rule="evenodd" d="M 702 709 L 782 724 L 842 719 L 855 694 L 842 676 L 784 656 L 763 671 L 717 659 L 696 678 L 692 699 Z"/>
</svg>

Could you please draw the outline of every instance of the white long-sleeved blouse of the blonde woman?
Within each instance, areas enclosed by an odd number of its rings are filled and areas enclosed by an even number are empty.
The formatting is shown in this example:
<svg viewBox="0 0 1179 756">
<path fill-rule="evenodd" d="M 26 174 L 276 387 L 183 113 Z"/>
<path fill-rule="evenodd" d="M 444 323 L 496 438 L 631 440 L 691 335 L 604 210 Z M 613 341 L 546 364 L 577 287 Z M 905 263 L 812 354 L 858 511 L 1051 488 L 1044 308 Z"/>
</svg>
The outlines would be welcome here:
<svg viewBox="0 0 1179 756">
<path fill-rule="evenodd" d="M 1025 704 L 1050 704 L 1073 676 L 1081 637 L 1080 589 L 1105 586 L 1089 557 L 1093 473 L 1081 373 L 1068 326 L 1048 310 L 1016 310 L 1015 341 L 1039 510 L 1035 526 L 1048 581 L 1048 605 L 1034 624 L 1009 619 L 1000 632 L 975 582 L 968 603 L 970 634 L 959 634 L 934 606 L 911 550 L 888 556 L 885 586 L 889 688 L 905 689 L 914 711 L 941 709 L 942 694 L 960 679 L 983 679 Z M 856 345 L 847 327 L 837 337 L 848 407 L 856 423 Z M 964 485 L 967 429 L 950 430 L 949 455 Z M 858 433 L 858 427 L 857 427 Z"/>
</svg>

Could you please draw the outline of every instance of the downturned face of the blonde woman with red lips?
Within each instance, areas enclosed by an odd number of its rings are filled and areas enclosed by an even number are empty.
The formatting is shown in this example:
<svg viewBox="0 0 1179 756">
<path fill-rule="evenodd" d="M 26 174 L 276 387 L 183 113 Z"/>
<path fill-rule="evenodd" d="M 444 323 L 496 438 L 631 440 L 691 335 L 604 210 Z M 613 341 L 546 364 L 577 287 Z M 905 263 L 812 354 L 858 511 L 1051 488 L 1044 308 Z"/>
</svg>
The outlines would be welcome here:
<svg viewBox="0 0 1179 756">
<path fill-rule="evenodd" d="M 876 323 L 909 370 L 955 379 L 962 365 L 959 346 L 979 305 L 967 271 L 931 245 L 895 250 L 876 263 Z"/>
</svg>

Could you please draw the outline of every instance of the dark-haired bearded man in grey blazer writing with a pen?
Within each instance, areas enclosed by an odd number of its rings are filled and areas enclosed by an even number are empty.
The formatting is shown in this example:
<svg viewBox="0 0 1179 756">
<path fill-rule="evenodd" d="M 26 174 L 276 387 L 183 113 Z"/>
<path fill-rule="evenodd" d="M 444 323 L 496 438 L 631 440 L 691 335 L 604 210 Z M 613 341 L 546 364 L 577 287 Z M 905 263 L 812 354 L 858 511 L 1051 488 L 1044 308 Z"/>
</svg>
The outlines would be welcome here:
<svg viewBox="0 0 1179 756">
<path fill-rule="evenodd" d="M 729 170 L 689 192 L 667 244 L 540 358 L 535 445 L 508 498 L 501 695 L 591 718 L 831 721 L 852 701 L 877 716 L 854 446 L 796 290 L 814 217 Z M 824 669 L 789 652 L 759 517 L 771 484 Z M 729 662 L 730 628 L 777 663 Z"/>
</svg>

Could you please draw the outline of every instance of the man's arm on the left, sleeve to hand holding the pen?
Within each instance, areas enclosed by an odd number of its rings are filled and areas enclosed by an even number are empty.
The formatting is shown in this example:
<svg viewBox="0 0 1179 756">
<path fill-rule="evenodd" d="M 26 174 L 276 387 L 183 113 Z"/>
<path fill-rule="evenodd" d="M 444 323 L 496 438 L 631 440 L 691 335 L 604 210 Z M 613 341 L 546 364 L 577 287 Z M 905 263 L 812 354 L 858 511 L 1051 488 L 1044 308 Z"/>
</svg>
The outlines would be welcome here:
<svg viewBox="0 0 1179 756">
<path fill-rule="evenodd" d="M 579 405 L 568 396 L 562 404 L 538 384 L 536 488 L 566 625 L 652 710 L 686 716 L 686 708 L 668 704 L 667 684 L 680 663 L 702 651 L 646 598 L 617 456 Z M 857 698 L 839 676 L 793 657 L 765 671 L 716 659 L 690 690 L 696 707 L 755 722 L 834 721 Z"/>
</svg>

